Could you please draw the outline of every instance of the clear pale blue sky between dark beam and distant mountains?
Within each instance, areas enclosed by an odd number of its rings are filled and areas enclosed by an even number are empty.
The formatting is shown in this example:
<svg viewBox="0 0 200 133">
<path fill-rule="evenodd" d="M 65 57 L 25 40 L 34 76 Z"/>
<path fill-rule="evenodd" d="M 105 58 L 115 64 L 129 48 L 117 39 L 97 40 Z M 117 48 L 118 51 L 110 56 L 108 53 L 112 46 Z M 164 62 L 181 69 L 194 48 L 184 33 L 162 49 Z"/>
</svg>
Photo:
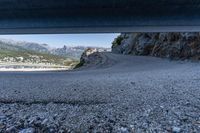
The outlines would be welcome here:
<svg viewBox="0 0 200 133">
<path fill-rule="evenodd" d="M 111 47 L 119 34 L 36 34 L 36 35 L 0 35 L 0 38 L 16 41 L 46 43 L 51 47 L 100 46 Z"/>
</svg>

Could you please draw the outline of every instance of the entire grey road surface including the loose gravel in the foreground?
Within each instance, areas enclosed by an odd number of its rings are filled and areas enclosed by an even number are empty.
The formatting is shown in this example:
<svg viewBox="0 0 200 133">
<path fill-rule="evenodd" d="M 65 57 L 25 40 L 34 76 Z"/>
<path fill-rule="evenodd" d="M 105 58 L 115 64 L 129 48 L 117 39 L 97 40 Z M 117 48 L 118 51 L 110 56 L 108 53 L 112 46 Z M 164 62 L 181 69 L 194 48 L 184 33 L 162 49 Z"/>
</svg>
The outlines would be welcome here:
<svg viewBox="0 0 200 133">
<path fill-rule="evenodd" d="M 100 53 L 63 72 L 0 72 L 0 132 L 200 132 L 200 63 Z"/>
</svg>

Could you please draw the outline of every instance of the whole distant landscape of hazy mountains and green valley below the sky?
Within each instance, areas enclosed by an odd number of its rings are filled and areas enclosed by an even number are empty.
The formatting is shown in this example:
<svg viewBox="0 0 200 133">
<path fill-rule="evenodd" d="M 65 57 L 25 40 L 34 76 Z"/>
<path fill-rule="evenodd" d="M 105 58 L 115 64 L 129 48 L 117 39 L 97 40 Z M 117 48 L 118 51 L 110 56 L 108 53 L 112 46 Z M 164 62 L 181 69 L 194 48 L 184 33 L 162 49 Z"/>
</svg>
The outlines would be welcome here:
<svg viewBox="0 0 200 133">
<path fill-rule="evenodd" d="M 53 48 L 48 44 L 0 39 L 0 68 L 66 68 L 78 64 L 88 47 Z M 91 47 L 97 51 L 108 48 Z"/>
</svg>

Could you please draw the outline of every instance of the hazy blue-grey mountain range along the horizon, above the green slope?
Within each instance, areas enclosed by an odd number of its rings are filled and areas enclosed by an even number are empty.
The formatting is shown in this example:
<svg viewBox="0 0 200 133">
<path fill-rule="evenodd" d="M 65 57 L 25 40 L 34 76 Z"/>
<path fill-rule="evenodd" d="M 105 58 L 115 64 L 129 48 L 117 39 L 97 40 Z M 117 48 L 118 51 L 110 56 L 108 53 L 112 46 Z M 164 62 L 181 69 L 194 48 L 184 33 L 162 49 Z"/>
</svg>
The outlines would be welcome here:
<svg viewBox="0 0 200 133">
<path fill-rule="evenodd" d="M 53 48 L 50 47 L 48 44 L 39 44 L 35 42 L 25 42 L 25 41 L 15 41 L 15 40 L 9 40 L 9 39 L 0 39 L 0 48 L 6 48 L 9 50 L 29 50 L 29 51 L 35 51 L 39 53 L 48 53 L 53 54 L 57 56 L 61 56 L 64 58 L 71 58 L 74 60 L 79 60 L 81 57 L 81 54 L 88 48 L 84 46 L 75 46 L 70 47 L 64 45 L 62 48 Z M 99 51 L 108 50 L 106 48 L 101 47 L 93 47 L 98 49 Z"/>
</svg>

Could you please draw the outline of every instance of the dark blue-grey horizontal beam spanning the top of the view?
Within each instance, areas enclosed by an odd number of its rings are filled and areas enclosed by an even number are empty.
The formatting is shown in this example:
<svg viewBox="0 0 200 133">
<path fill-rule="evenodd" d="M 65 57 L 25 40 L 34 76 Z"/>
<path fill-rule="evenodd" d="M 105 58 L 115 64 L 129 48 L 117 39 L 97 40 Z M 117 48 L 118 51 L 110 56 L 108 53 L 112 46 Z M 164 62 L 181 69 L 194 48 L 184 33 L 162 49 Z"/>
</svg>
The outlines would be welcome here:
<svg viewBox="0 0 200 133">
<path fill-rule="evenodd" d="M 169 31 L 200 31 L 200 1 L 0 1 L 0 34 Z"/>
</svg>

